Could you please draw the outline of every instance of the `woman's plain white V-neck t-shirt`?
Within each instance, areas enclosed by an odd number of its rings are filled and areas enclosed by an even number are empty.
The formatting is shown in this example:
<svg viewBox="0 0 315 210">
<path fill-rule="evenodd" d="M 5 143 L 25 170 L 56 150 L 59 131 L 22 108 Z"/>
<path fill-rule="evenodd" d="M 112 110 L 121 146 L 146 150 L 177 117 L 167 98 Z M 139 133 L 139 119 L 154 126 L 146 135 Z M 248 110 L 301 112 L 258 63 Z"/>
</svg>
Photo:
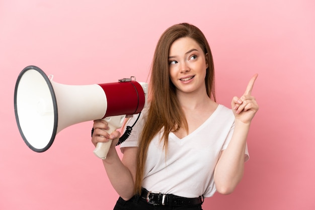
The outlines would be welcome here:
<svg viewBox="0 0 315 210">
<path fill-rule="evenodd" d="M 137 147 L 145 119 L 141 113 L 129 138 L 121 144 Z M 134 116 L 128 125 L 132 125 Z M 148 191 L 183 197 L 210 197 L 216 191 L 213 172 L 221 150 L 227 148 L 234 130 L 232 111 L 219 104 L 213 114 L 194 132 L 179 139 L 170 133 L 168 153 L 163 150 L 162 133 L 157 134 L 148 148 L 142 187 Z M 246 146 L 245 160 L 249 159 Z"/>
</svg>

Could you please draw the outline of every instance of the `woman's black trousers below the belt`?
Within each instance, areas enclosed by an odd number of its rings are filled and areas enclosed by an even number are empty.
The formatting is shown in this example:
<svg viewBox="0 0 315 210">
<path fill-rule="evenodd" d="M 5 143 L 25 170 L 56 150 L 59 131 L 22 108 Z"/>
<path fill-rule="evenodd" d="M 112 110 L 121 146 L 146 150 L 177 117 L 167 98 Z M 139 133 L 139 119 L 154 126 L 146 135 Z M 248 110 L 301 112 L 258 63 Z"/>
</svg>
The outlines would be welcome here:
<svg viewBox="0 0 315 210">
<path fill-rule="evenodd" d="M 152 205 L 142 197 L 133 196 L 130 200 L 118 198 L 114 210 L 202 210 L 201 204 L 191 206 Z"/>
</svg>

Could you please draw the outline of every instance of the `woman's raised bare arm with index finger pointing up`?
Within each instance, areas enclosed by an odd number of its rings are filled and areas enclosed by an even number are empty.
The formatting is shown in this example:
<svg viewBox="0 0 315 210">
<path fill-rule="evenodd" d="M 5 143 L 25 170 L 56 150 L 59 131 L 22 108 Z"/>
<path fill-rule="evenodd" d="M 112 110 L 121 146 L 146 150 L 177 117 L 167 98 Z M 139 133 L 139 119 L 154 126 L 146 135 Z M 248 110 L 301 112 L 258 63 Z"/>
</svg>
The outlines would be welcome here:
<svg viewBox="0 0 315 210">
<path fill-rule="evenodd" d="M 234 97 L 232 109 L 235 116 L 235 128 L 227 148 L 221 152 L 214 170 L 214 182 L 217 191 L 229 194 L 241 181 L 244 174 L 246 139 L 259 106 L 251 95 L 257 74 L 250 80 L 241 98 Z"/>
</svg>

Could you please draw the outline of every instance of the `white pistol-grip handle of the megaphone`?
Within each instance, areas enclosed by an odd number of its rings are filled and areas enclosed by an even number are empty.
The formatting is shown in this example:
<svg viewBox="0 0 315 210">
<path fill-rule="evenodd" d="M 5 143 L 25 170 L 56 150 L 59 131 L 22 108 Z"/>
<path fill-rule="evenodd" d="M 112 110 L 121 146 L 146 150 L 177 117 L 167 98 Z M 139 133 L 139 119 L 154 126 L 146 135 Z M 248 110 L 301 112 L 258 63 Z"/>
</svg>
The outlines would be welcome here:
<svg viewBox="0 0 315 210">
<path fill-rule="evenodd" d="M 113 131 L 115 131 L 116 129 L 119 129 L 122 127 L 123 121 L 125 119 L 125 115 L 122 116 L 114 116 L 114 117 L 108 117 L 105 118 L 103 120 L 105 120 L 106 122 L 108 122 L 108 126 L 109 126 L 109 130 L 107 130 L 107 132 L 109 134 L 111 134 Z M 105 159 L 108 153 L 108 150 L 112 144 L 112 139 L 110 139 L 108 142 L 99 142 L 96 145 L 96 148 L 94 149 L 94 154 L 101 158 L 101 159 Z"/>
</svg>

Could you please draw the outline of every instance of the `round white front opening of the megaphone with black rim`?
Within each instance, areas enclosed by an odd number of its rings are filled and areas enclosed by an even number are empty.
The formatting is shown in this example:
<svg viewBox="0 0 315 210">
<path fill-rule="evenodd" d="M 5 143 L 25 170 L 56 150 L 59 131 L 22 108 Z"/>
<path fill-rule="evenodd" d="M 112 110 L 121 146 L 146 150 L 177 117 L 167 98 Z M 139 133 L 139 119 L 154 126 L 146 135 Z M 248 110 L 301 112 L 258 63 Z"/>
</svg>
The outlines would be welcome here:
<svg viewBox="0 0 315 210">
<path fill-rule="evenodd" d="M 14 91 L 15 117 L 20 134 L 35 152 L 44 152 L 57 133 L 56 96 L 47 75 L 27 66 L 18 76 Z"/>
</svg>

